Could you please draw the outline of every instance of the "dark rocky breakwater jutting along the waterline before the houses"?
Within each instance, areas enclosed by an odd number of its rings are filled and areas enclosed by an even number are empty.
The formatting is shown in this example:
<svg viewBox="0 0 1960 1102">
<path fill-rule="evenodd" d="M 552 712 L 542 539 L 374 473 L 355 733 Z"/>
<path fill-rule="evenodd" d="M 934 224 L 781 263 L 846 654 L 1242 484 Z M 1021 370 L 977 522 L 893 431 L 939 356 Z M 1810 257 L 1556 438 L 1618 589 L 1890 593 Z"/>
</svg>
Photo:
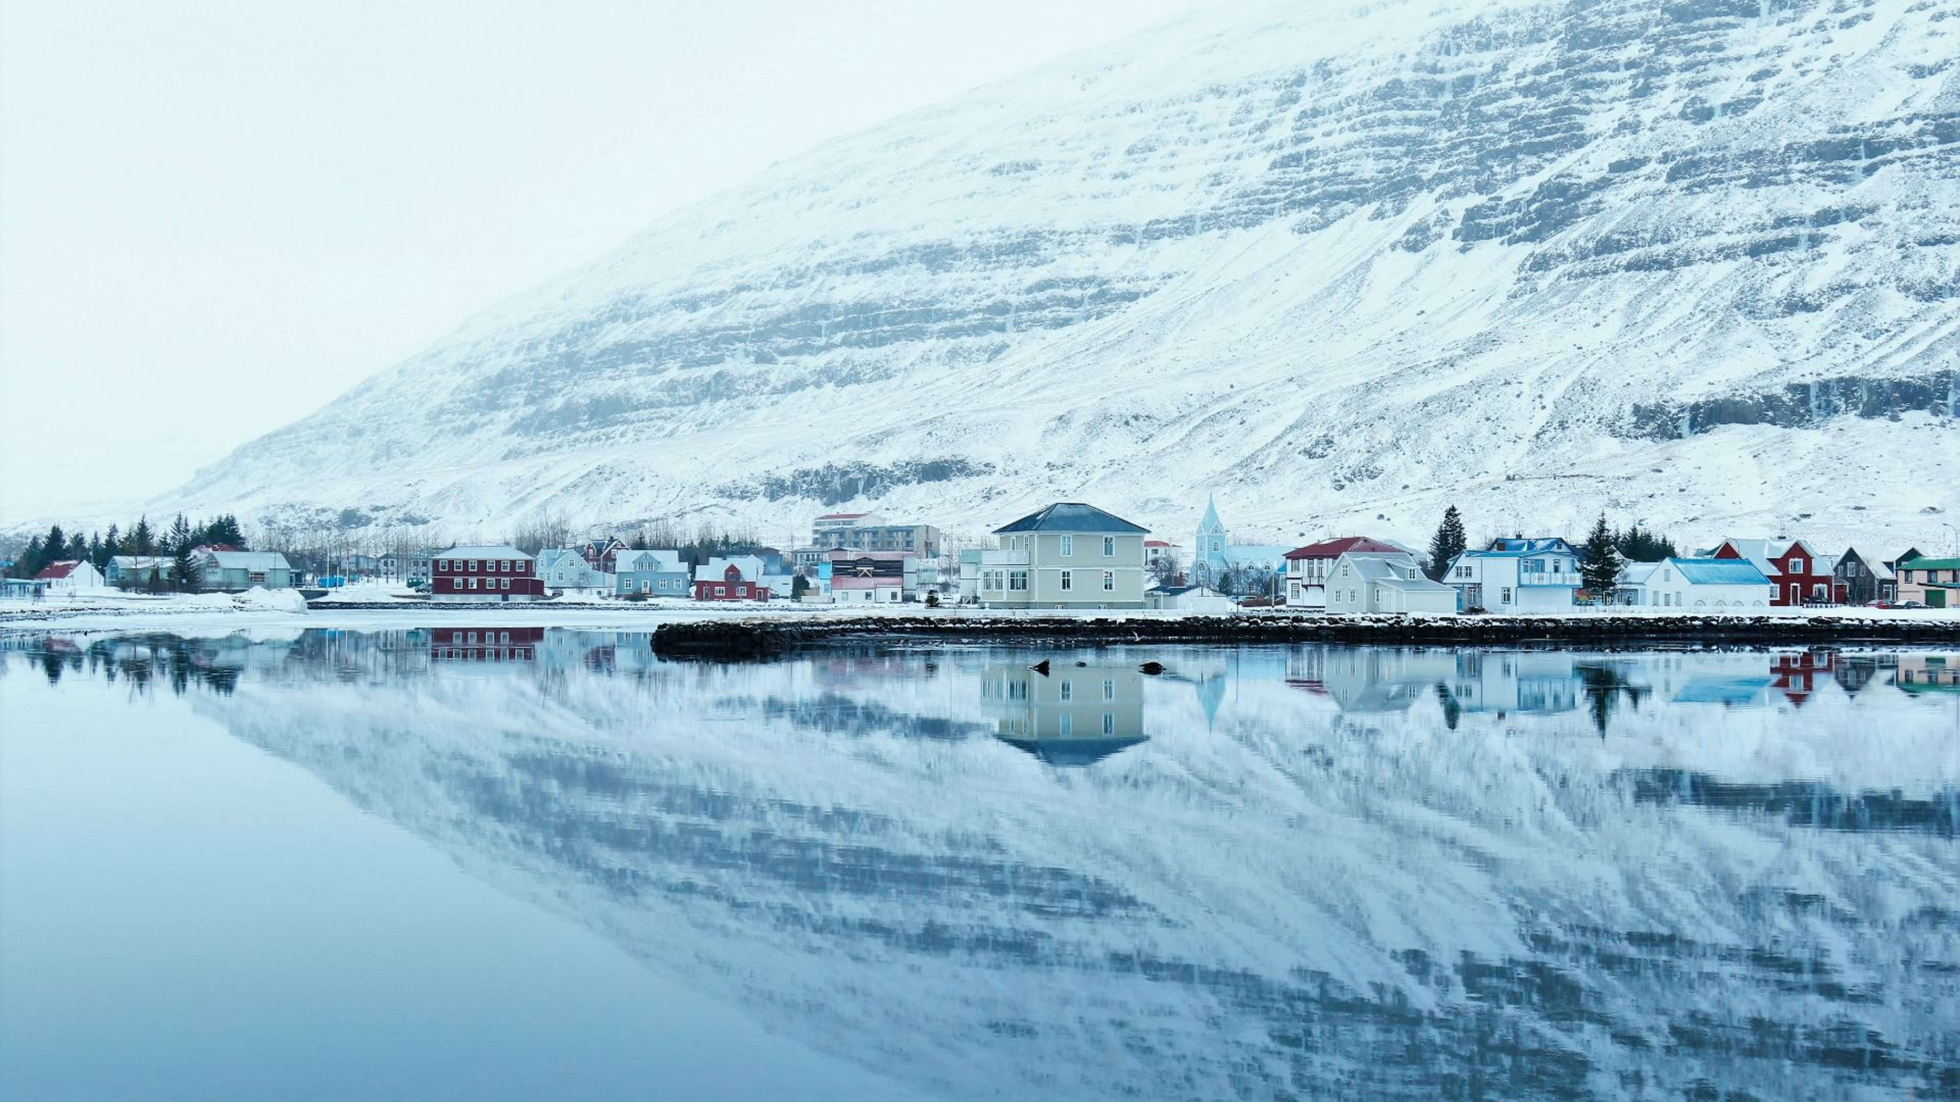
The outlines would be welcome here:
<svg viewBox="0 0 1960 1102">
<path fill-rule="evenodd" d="M 939 639 L 970 643 L 1960 643 L 1956 618 L 1866 616 L 866 616 L 821 624 L 704 620 L 662 624 L 653 649 L 676 659 L 766 659 L 823 645 Z"/>
</svg>

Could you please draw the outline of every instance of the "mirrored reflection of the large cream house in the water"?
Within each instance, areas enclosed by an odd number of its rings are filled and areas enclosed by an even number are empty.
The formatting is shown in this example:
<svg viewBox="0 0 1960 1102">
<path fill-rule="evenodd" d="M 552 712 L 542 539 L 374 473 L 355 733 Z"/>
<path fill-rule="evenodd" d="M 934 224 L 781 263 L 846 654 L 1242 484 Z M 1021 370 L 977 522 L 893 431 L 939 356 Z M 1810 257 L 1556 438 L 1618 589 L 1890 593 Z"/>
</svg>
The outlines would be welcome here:
<svg viewBox="0 0 1960 1102">
<path fill-rule="evenodd" d="M 1137 667 L 1056 663 L 1047 675 L 988 663 L 980 698 L 1000 741 L 1049 765 L 1094 765 L 1141 743 L 1143 673 Z"/>
</svg>

